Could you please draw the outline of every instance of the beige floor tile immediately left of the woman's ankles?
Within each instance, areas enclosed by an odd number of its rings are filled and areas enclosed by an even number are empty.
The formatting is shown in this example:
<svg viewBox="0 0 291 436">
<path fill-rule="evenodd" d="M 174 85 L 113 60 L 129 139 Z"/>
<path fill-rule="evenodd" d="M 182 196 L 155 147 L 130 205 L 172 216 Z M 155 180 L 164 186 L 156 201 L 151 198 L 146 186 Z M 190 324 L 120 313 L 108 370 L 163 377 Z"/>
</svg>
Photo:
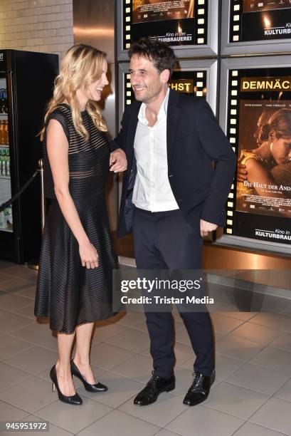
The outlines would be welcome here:
<svg viewBox="0 0 291 436">
<path fill-rule="evenodd" d="M 46 368 L 51 368 L 58 360 L 58 353 L 55 351 L 46 350 L 46 348 L 33 347 L 22 353 L 13 355 L 10 358 L 3 360 L 7 365 L 21 369 L 27 373 L 37 374 Z"/>
</svg>

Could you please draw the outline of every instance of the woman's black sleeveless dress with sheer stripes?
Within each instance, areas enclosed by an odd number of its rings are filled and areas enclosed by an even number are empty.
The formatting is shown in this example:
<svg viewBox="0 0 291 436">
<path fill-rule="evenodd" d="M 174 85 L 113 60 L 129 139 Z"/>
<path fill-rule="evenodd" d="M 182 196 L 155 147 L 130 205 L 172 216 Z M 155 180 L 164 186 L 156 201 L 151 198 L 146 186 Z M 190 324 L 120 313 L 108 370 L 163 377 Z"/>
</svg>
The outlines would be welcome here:
<svg viewBox="0 0 291 436">
<path fill-rule="evenodd" d="M 90 135 L 88 141 L 76 133 L 69 105 L 58 105 L 48 121 L 58 120 L 68 138 L 70 195 L 85 232 L 97 249 L 99 266 L 95 269 L 81 264 L 77 239 L 55 197 L 46 134 L 43 140 L 45 189 L 51 204 L 43 232 L 34 313 L 40 317 L 50 316 L 51 329 L 61 333 L 73 333 L 80 324 L 114 315 L 112 269 L 117 269 L 117 256 L 112 249 L 105 204 L 110 147 L 107 137 L 97 130 L 87 111 L 81 115 Z"/>
</svg>

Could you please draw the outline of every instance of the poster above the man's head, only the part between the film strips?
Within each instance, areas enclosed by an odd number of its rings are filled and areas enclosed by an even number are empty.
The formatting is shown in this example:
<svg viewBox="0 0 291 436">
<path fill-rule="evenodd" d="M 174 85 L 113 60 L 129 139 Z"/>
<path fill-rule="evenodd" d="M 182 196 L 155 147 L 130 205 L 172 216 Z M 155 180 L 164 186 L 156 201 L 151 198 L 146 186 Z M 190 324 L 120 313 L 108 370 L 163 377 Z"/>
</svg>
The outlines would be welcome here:
<svg viewBox="0 0 291 436">
<path fill-rule="evenodd" d="M 196 0 L 132 0 L 132 41 L 144 36 L 171 46 L 196 43 Z"/>
</svg>

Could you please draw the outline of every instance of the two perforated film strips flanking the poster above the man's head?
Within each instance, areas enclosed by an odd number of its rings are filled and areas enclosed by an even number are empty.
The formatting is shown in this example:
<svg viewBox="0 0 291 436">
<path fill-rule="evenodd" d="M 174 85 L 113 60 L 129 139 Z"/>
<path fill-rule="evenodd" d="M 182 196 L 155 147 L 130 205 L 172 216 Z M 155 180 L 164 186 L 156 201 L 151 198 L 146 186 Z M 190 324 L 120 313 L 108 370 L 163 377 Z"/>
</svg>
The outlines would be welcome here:
<svg viewBox="0 0 291 436">
<path fill-rule="evenodd" d="M 128 50 L 132 43 L 132 0 L 123 1 L 123 50 Z M 195 41 L 194 45 L 207 43 L 208 1 L 196 0 L 194 4 Z"/>
</svg>

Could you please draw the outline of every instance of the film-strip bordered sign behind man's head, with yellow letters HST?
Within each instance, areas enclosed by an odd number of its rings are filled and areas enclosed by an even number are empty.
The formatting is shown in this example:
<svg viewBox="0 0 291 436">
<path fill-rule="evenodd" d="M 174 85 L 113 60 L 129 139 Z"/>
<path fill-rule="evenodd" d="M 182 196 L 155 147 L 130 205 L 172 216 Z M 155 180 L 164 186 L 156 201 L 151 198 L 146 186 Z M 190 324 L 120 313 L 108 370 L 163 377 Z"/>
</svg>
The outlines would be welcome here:
<svg viewBox="0 0 291 436">
<path fill-rule="evenodd" d="M 176 75 L 175 75 L 176 73 Z M 189 76 L 191 73 L 191 78 L 183 78 L 184 71 L 174 71 L 173 79 L 169 81 L 169 86 L 180 93 L 196 95 L 196 97 L 206 98 L 207 93 L 207 71 L 206 70 L 196 70 L 196 71 L 186 71 L 185 73 Z M 178 77 L 181 76 L 181 77 Z M 180 81 L 179 81 L 180 79 Z M 125 73 L 125 106 L 131 105 L 134 102 L 134 92 L 132 90 L 132 85 L 130 84 L 130 74 Z"/>
</svg>

